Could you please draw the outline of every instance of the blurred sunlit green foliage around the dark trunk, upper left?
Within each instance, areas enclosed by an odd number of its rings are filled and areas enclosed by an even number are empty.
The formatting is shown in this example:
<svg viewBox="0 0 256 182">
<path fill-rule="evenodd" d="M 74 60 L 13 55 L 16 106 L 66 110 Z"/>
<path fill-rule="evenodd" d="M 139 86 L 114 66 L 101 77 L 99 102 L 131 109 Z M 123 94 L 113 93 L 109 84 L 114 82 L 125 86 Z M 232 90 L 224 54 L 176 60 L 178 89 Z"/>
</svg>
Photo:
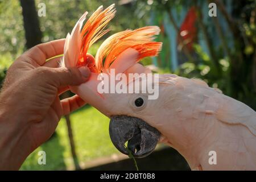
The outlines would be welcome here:
<svg viewBox="0 0 256 182">
<path fill-rule="evenodd" d="M 123 31 L 128 28 L 134 29 L 144 26 L 144 20 L 137 20 L 140 16 L 139 11 L 134 6 L 118 5 L 119 1 L 90 1 L 90 0 L 61 0 L 61 1 L 43 1 L 46 4 L 46 16 L 39 17 L 40 30 L 43 32 L 42 42 L 65 38 L 68 32 L 72 31 L 73 26 L 80 16 L 88 11 L 88 17 L 101 5 L 107 7 L 112 3 L 116 4 L 117 15 L 109 24 L 109 34 L 104 36 L 104 40 L 115 32 Z M 38 9 L 40 0 L 35 0 L 36 9 Z M 142 8 L 142 7 L 141 7 Z M 133 13 L 130 13 L 133 12 Z M 10 61 L 13 61 L 25 50 L 22 8 L 19 1 L 10 0 L 0 2 L 0 54 L 11 54 Z M 100 44 L 92 47 L 93 55 Z"/>
</svg>

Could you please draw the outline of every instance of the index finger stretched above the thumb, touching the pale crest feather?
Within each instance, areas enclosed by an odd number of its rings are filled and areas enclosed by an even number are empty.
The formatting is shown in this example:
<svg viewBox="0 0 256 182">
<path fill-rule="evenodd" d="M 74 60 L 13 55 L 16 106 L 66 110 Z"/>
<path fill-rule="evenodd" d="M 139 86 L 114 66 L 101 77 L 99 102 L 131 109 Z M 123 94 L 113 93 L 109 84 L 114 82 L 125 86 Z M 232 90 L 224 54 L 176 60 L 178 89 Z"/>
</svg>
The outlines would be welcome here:
<svg viewBox="0 0 256 182">
<path fill-rule="evenodd" d="M 43 65 L 47 59 L 63 54 L 64 44 L 65 39 L 38 44 L 25 52 L 23 56 L 28 56 L 31 61 L 35 61 L 37 64 Z"/>
</svg>

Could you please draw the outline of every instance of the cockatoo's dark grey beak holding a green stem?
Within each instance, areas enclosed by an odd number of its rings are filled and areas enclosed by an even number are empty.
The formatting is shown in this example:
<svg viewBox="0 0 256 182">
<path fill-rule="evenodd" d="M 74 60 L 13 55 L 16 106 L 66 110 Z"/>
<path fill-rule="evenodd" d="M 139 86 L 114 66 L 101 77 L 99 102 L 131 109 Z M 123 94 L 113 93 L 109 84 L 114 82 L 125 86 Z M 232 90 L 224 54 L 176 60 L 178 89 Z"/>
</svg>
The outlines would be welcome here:
<svg viewBox="0 0 256 182">
<path fill-rule="evenodd" d="M 142 119 L 126 115 L 111 117 L 109 135 L 120 152 L 129 155 L 128 148 L 135 158 L 143 158 L 151 154 L 160 138 L 160 132 L 154 127 Z"/>
</svg>

